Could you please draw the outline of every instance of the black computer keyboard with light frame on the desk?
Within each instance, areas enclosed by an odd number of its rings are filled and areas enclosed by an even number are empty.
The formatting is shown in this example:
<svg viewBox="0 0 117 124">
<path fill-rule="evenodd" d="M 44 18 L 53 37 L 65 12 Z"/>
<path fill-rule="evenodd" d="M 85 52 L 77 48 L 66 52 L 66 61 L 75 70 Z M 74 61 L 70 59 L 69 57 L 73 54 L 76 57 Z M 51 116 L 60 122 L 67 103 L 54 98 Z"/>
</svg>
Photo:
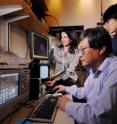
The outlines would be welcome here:
<svg viewBox="0 0 117 124">
<path fill-rule="evenodd" d="M 57 101 L 58 96 L 44 98 L 29 119 L 34 122 L 53 122 L 57 110 Z"/>
</svg>

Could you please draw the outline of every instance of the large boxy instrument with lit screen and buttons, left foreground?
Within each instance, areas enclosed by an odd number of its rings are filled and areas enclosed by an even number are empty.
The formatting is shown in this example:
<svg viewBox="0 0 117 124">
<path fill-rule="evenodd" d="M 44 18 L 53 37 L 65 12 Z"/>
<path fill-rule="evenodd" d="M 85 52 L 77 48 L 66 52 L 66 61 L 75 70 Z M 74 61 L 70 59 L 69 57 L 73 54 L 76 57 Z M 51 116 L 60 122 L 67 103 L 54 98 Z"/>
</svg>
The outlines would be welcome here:
<svg viewBox="0 0 117 124">
<path fill-rule="evenodd" d="M 0 124 L 29 99 L 29 69 L 8 67 L 0 69 Z"/>
</svg>

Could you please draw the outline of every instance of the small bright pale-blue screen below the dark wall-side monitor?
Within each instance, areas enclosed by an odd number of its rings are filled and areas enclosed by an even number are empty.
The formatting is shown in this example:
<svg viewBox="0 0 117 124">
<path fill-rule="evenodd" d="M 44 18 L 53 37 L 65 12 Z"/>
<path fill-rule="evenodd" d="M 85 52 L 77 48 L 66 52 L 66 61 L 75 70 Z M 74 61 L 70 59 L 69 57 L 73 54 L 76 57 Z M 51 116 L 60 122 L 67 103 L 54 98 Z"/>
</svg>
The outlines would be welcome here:
<svg viewBox="0 0 117 124">
<path fill-rule="evenodd" d="M 42 64 L 40 65 L 40 79 L 47 79 L 49 78 L 49 65 Z"/>
</svg>

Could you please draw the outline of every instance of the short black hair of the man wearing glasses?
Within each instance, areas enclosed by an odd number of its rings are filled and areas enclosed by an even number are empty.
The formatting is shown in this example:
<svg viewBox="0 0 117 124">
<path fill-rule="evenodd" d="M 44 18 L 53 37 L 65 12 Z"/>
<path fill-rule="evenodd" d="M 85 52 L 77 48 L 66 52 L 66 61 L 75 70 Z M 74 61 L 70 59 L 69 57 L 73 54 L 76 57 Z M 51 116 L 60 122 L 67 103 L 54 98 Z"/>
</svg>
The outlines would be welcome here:
<svg viewBox="0 0 117 124">
<path fill-rule="evenodd" d="M 111 37 L 103 27 L 88 28 L 80 35 L 80 41 L 88 38 L 90 48 L 101 49 L 106 47 L 105 56 L 112 53 Z"/>
</svg>

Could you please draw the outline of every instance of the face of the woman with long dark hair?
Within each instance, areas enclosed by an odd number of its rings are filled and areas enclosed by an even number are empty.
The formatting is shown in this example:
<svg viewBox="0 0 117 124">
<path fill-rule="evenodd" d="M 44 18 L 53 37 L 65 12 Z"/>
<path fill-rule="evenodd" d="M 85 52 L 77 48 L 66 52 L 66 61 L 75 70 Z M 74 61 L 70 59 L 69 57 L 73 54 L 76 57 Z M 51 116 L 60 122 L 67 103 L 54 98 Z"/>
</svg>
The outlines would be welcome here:
<svg viewBox="0 0 117 124">
<path fill-rule="evenodd" d="M 61 42 L 62 42 L 63 46 L 69 46 L 70 45 L 71 41 L 65 32 L 61 33 Z"/>
</svg>

